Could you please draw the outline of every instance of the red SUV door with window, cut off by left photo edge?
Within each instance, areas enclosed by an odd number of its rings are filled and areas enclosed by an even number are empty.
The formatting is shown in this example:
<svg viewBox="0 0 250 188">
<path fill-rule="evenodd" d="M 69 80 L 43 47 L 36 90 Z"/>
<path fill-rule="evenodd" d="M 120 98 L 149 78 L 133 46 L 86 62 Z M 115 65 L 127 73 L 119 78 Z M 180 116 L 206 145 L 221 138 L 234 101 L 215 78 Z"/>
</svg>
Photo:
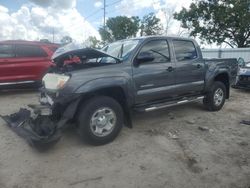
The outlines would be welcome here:
<svg viewBox="0 0 250 188">
<path fill-rule="evenodd" d="M 13 62 L 15 61 L 12 44 L 0 44 L 0 85 L 13 80 Z"/>
</svg>

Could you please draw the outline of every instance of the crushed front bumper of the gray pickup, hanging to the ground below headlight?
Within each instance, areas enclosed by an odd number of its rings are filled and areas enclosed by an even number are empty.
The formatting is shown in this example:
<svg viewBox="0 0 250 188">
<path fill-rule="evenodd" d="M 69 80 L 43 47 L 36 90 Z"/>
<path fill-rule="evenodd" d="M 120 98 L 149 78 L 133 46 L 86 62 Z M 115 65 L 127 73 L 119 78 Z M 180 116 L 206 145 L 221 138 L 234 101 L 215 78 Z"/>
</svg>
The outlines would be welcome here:
<svg viewBox="0 0 250 188">
<path fill-rule="evenodd" d="M 17 113 L 1 117 L 31 146 L 43 147 L 56 143 L 61 138 L 61 132 L 67 121 L 74 117 L 79 101 L 79 98 L 73 98 L 58 118 L 55 112 L 57 104 L 48 95 L 41 95 L 41 105 L 29 105 L 30 109 L 21 108 Z"/>
</svg>

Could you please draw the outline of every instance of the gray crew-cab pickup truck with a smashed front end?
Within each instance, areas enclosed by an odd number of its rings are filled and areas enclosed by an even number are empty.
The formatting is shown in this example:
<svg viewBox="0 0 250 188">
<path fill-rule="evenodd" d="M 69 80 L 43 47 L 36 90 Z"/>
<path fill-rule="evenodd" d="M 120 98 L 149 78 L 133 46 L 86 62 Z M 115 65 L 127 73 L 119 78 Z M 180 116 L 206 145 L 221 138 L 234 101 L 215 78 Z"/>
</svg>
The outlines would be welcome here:
<svg viewBox="0 0 250 188">
<path fill-rule="evenodd" d="M 203 59 L 192 39 L 163 36 L 117 41 L 102 50 L 66 46 L 53 61 L 43 78 L 41 105 L 30 105 L 32 113 L 2 116 L 32 142 L 56 140 L 71 120 L 84 139 L 102 145 L 123 125 L 132 127 L 136 111 L 202 99 L 208 110 L 218 111 L 238 70 L 236 59 Z"/>
</svg>

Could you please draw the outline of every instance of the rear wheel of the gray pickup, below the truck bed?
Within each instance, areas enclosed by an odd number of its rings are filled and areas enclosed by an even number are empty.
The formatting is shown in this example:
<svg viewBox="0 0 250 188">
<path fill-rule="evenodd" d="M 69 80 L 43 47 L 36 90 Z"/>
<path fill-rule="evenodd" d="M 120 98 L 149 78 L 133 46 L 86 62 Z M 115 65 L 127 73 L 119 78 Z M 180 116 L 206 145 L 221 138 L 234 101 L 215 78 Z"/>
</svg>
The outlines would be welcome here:
<svg viewBox="0 0 250 188">
<path fill-rule="evenodd" d="M 219 111 L 226 100 L 226 86 L 224 83 L 216 81 L 210 91 L 203 99 L 203 104 L 209 111 Z"/>
</svg>

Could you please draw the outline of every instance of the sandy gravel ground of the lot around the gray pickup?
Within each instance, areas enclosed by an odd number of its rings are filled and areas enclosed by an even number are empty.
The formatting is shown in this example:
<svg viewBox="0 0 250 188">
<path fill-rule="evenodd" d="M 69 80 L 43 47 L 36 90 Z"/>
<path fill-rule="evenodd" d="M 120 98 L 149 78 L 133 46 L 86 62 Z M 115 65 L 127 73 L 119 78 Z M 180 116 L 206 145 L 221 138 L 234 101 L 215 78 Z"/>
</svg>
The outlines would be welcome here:
<svg viewBox="0 0 250 188">
<path fill-rule="evenodd" d="M 37 103 L 37 92 L 1 92 L 0 114 Z M 201 103 L 133 118 L 113 142 L 89 146 L 68 129 L 39 152 L 0 119 L 0 188 L 250 187 L 250 92 L 232 90 L 223 110 Z"/>
</svg>

